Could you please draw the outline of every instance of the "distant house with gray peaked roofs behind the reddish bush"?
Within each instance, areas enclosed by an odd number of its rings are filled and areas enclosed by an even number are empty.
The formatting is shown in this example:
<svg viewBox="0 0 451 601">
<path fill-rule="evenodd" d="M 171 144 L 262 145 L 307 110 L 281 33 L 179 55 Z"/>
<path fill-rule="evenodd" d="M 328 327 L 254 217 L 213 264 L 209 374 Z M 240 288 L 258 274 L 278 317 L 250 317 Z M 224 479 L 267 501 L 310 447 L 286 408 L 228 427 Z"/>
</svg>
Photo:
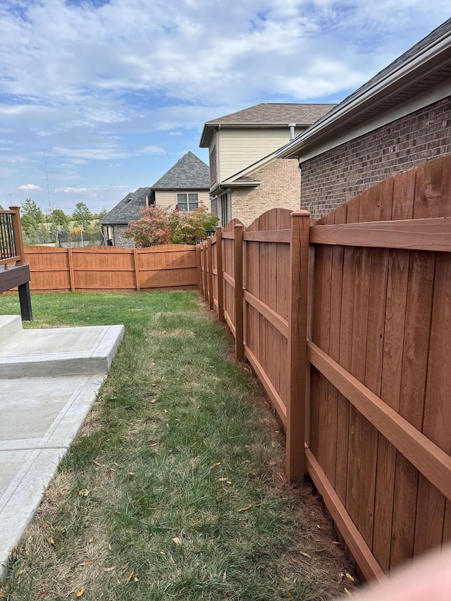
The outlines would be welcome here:
<svg viewBox="0 0 451 601">
<path fill-rule="evenodd" d="M 123 233 L 130 221 L 140 218 L 146 206 L 166 209 L 178 206 L 180 211 L 192 211 L 199 204 L 210 208 L 209 168 L 195 154 L 187 152 L 153 186 L 126 194 L 99 223 L 109 244 L 132 248 L 134 241 L 125 238 Z"/>
</svg>

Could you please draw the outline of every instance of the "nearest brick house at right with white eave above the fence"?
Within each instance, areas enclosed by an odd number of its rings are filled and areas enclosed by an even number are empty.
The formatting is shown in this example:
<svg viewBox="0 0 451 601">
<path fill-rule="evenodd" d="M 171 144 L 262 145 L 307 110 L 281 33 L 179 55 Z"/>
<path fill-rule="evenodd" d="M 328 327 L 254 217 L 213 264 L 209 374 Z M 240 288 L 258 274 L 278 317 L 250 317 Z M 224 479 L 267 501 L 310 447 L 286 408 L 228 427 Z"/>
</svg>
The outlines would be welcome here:
<svg viewBox="0 0 451 601">
<path fill-rule="evenodd" d="M 451 19 L 276 155 L 298 159 L 301 208 L 321 218 L 378 182 L 450 153 Z"/>
</svg>

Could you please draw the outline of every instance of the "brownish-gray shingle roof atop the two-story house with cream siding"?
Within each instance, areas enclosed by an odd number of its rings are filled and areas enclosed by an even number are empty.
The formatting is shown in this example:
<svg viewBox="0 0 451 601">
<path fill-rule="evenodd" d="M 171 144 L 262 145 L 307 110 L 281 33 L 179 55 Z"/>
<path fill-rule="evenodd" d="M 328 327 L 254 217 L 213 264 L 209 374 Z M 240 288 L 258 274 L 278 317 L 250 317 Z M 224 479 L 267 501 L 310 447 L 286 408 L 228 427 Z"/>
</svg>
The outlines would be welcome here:
<svg viewBox="0 0 451 601">
<path fill-rule="evenodd" d="M 249 106 L 248 109 L 230 113 L 204 123 L 199 146 L 204 148 L 209 145 L 214 130 L 221 127 L 283 127 L 295 123 L 298 127 L 311 125 L 335 104 L 280 104 L 262 102 Z"/>
</svg>

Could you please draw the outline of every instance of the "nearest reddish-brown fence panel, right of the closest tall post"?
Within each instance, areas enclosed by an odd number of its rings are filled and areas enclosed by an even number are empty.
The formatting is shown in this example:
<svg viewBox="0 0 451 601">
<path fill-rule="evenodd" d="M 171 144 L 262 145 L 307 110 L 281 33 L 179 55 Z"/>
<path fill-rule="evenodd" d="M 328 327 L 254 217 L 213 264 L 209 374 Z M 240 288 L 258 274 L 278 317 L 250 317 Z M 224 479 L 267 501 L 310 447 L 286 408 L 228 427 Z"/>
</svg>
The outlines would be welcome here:
<svg viewBox="0 0 451 601">
<path fill-rule="evenodd" d="M 437 219 L 451 216 L 450 167 L 445 157 L 386 180 L 311 229 L 316 261 L 310 357 L 319 367 L 314 347 L 321 349 L 345 368 L 346 378 L 354 376 L 375 395 L 375 404 L 383 402 L 390 419 L 393 409 L 399 423 L 393 433 L 370 406 L 364 410 L 354 393 L 345 398 L 322 368 L 312 366 L 309 451 L 318 464 L 315 476 L 327 476 L 322 485 L 342 504 L 331 513 L 340 509 L 357 526 L 357 559 L 367 577 L 381 578 L 379 566 L 388 574 L 450 538 L 445 482 L 451 480 L 451 357 L 445 341 L 451 333 L 451 239 L 450 221 Z M 397 223 L 406 219 L 412 225 Z M 332 224 L 366 222 L 373 224 L 362 225 L 359 242 L 357 229 L 335 228 L 341 244 L 338 238 L 319 243 Z M 377 247 L 379 235 L 385 247 Z M 412 447 L 400 442 L 406 433 Z M 431 454 L 423 460 L 426 450 Z M 445 470 L 441 478 L 435 474 L 439 465 Z M 349 542 L 349 531 L 345 538 Z"/>
</svg>

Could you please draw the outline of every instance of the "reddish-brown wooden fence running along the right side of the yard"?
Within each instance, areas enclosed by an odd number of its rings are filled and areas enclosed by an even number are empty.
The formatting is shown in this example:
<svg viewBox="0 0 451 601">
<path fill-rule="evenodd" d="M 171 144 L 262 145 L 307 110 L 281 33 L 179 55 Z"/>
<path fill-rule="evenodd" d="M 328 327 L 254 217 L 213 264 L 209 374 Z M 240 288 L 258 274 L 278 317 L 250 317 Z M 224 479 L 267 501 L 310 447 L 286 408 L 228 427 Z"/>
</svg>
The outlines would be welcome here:
<svg viewBox="0 0 451 601">
<path fill-rule="evenodd" d="M 364 576 L 384 581 L 451 541 L 451 157 L 308 221 L 218 228 L 202 292 L 220 315 L 233 240 L 222 310 L 285 426 L 288 476 L 305 465 Z"/>
</svg>

